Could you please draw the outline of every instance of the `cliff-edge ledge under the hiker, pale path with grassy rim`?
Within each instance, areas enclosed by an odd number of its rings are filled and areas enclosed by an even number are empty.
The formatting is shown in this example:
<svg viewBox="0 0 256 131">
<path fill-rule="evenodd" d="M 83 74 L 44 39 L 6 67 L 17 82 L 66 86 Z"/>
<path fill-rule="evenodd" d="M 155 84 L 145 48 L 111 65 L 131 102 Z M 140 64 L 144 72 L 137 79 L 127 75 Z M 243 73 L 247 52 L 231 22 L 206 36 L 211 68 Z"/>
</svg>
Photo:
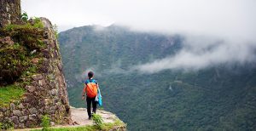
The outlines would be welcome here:
<svg viewBox="0 0 256 131">
<path fill-rule="evenodd" d="M 97 120 L 89 120 L 87 117 L 87 111 L 84 108 L 73 108 L 71 107 L 71 117 L 73 120 L 73 124 L 69 125 L 55 125 L 47 130 L 119 130 L 125 131 L 126 125 L 124 122 L 119 120 L 113 113 L 103 110 L 97 110 L 97 115 L 102 117 L 102 124 L 99 126 L 95 122 L 99 122 Z M 15 131 L 39 131 L 43 128 L 23 128 L 23 129 L 15 129 Z"/>
</svg>

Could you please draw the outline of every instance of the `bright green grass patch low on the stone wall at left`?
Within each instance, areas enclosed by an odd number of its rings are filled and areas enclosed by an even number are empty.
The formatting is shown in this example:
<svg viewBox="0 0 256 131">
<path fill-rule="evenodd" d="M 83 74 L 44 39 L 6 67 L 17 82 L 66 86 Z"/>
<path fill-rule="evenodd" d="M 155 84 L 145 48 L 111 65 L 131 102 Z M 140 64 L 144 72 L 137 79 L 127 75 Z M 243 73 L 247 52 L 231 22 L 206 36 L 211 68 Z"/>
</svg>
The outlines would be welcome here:
<svg viewBox="0 0 256 131">
<path fill-rule="evenodd" d="M 9 105 L 12 101 L 20 100 L 22 95 L 25 93 L 24 88 L 20 86 L 9 85 L 0 88 L 0 106 Z"/>
</svg>

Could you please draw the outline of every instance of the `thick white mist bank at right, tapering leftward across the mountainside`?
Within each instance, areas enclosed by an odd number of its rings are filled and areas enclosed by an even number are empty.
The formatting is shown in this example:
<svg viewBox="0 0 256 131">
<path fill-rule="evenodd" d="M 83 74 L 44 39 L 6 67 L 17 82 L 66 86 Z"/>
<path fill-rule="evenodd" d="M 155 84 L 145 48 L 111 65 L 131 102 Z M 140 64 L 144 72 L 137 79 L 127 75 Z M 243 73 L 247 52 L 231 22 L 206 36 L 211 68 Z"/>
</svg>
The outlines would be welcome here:
<svg viewBox="0 0 256 131">
<path fill-rule="evenodd" d="M 143 65 L 135 65 L 133 71 L 155 73 L 163 70 L 197 71 L 214 65 L 244 65 L 256 62 L 256 46 L 253 43 L 230 43 L 201 37 L 187 37 L 184 47 L 174 56 Z"/>
</svg>

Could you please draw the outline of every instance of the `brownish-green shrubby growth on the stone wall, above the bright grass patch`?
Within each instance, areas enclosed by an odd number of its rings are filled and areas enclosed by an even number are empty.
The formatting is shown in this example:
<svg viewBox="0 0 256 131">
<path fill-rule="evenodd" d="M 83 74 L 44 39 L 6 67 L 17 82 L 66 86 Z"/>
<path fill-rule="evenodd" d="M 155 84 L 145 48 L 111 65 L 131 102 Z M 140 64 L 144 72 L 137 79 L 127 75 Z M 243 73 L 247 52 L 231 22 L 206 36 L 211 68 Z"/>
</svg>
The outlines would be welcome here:
<svg viewBox="0 0 256 131">
<path fill-rule="evenodd" d="M 43 29 L 38 28 L 42 22 L 38 18 L 34 21 L 34 24 L 8 25 L 0 30 L 0 38 L 6 39 L 0 41 L 0 70 L 3 72 L 0 86 L 15 83 L 28 71 L 30 75 L 37 71 L 31 60 L 42 57 L 38 51 L 46 47 L 42 42 Z"/>
</svg>

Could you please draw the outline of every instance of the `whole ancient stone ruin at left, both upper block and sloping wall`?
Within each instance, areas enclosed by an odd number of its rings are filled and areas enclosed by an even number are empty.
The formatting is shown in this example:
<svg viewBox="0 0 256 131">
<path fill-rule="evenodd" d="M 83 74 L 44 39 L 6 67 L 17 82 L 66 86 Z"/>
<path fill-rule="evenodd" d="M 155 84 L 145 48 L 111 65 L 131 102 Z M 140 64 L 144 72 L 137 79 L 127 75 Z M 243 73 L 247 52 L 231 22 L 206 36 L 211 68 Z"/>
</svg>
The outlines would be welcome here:
<svg viewBox="0 0 256 131">
<path fill-rule="evenodd" d="M 19 24 L 19 20 L 20 0 L 1 0 L 0 29 L 9 24 Z M 21 73 L 21 77 L 12 83 L 21 85 L 20 87 L 24 88 L 24 94 L 20 100 L 10 101 L 8 105 L 0 106 L 0 123 L 2 126 L 40 127 L 44 115 L 48 115 L 51 125 L 71 122 L 67 87 L 62 73 L 60 49 L 55 37 L 56 32 L 49 20 L 40 18 L 40 21 L 43 24 L 40 29 L 36 27 L 26 29 L 26 26 L 13 27 L 9 30 L 1 29 L 0 48 L 9 46 L 13 49 L 15 44 L 19 45 L 15 47 L 16 49 L 28 47 L 26 50 L 29 52 L 22 59 L 29 60 L 28 64 L 33 65 L 31 67 L 36 69 L 32 73 L 26 71 L 25 75 Z M 22 38 L 26 38 L 26 42 L 32 43 L 30 45 L 28 45 L 29 43 L 19 43 L 18 40 Z M 41 45 L 38 46 L 38 43 Z M 1 58 L 4 59 L 7 54 L 3 52 Z M 26 55 L 29 55 L 30 58 L 26 59 Z M 12 65 L 11 62 L 10 65 Z"/>
</svg>

